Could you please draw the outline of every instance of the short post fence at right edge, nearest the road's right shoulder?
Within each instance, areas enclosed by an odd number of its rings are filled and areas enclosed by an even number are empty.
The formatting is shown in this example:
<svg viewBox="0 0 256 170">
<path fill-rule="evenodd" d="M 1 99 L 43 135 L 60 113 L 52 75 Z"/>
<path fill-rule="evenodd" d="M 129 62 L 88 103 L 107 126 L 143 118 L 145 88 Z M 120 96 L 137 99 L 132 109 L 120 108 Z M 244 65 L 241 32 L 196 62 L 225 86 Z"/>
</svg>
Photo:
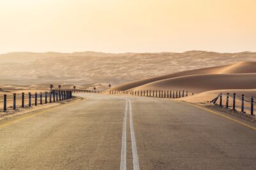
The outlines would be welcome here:
<svg viewBox="0 0 256 170">
<path fill-rule="evenodd" d="M 246 111 L 248 111 L 252 116 L 256 109 L 254 107 L 254 102 L 255 97 L 246 97 L 244 94 L 239 97 L 236 93 L 233 93 L 232 95 L 227 93 L 225 98 L 223 98 L 223 94 L 220 93 L 211 101 L 213 104 L 218 104 L 220 107 L 225 107 L 233 111 L 241 111 L 241 113 L 247 113 Z M 239 108 L 239 110 L 237 110 L 237 108 Z"/>
</svg>

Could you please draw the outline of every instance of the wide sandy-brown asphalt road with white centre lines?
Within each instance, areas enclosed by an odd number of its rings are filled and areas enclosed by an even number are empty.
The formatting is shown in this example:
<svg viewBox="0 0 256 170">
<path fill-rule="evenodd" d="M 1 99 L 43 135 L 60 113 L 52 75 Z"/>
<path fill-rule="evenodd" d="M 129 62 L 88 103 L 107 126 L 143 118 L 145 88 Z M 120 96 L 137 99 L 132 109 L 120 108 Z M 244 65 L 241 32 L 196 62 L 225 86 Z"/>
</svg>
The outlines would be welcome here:
<svg viewBox="0 0 256 170">
<path fill-rule="evenodd" d="M 256 169 L 256 127 L 191 104 L 80 94 L 0 123 L 0 169 Z"/>
</svg>

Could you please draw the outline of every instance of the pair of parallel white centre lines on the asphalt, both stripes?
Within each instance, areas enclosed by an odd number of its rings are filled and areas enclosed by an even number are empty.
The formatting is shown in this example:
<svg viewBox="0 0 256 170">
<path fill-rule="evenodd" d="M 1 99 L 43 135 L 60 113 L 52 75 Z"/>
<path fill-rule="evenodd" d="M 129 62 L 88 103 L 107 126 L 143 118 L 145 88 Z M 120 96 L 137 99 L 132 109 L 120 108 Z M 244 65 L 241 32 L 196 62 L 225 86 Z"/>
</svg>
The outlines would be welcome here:
<svg viewBox="0 0 256 170">
<path fill-rule="evenodd" d="M 130 99 L 125 99 L 125 111 L 124 111 L 124 123 L 123 123 L 123 135 L 122 135 L 122 150 L 121 150 L 121 164 L 120 169 L 126 169 L 126 122 L 127 122 L 127 112 L 128 112 L 128 103 L 129 103 L 129 118 L 130 118 L 130 129 L 131 129 L 131 142 L 132 142 L 132 162 L 133 162 L 133 169 L 139 170 L 139 159 L 138 159 L 138 152 L 136 146 L 136 139 L 134 134 L 133 128 L 133 121 L 132 121 L 132 104 Z"/>
</svg>

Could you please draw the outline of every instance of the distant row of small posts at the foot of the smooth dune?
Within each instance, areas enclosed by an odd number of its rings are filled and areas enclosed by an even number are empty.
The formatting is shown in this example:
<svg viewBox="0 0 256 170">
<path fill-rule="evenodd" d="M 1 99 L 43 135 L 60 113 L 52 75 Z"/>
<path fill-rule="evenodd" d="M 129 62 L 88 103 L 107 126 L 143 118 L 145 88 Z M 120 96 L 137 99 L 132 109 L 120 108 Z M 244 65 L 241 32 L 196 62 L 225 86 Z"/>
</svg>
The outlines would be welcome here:
<svg viewBox="0 0 256 170">
<path fill-rule="evenodd" d="M 116 91 L 109 90 L 109 94 L 129 94 L 132 96 L 145 96 L 145 97 L 160 97 L 160 98 L 172 98 L 177 99 L 180 97 L 187 97 L 194 95 L 185 90 L 124 90 Z"/>
</svg>

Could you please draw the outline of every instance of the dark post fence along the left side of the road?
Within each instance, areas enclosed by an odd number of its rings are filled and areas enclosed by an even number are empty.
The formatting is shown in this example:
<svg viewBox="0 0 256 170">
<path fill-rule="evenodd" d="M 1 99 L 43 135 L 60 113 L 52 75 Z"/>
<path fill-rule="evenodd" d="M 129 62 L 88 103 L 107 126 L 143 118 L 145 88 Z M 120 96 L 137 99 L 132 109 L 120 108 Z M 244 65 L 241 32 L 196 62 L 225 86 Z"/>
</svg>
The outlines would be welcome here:
<svg viewBox="0 0 256 170">
<path fill-rule="evenodd" d="M 25 94 L 22 92 L 21 94 L 13 93 L 12 96 L 8 96 L 7 94 L 3 95 L 3 99 L 0 99 L 0 102 L 3 103 L 3 112 L 8 110 L 7 103 L 12 102 L 12 106 L 10 108 L 12 110 L 16 110 L 17 106 L 20 108 L 25 108 L 25 106 L 31 107 L 37 106 L 39 104 L 47 104 L 47 103 L 55 103 L 58 101 L 65 101 L 67 99 L 72 98 L 72 90 L 51 90 L 51 92 L 40 92 L 39 94 L 35 92 L 35 94 Z M 34 102 L 33 102 L 33 101 Z M 19 101 L 19 104 L 17 104 Z M 26 105 L 27 103 L 27 105 Z"/>
</svg>

